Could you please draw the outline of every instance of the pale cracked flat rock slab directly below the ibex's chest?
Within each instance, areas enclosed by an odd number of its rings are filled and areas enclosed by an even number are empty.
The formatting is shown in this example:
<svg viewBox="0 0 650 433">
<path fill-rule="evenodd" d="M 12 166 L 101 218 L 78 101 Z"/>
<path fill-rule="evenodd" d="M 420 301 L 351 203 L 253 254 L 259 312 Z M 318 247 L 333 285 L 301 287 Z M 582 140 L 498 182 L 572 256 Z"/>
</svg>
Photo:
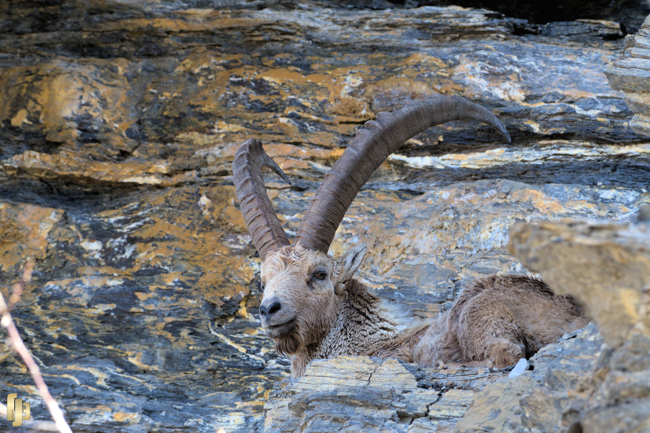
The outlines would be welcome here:
<svg viewBox="0 0 650 433">
<path fill-rule="evenodd" d="M 471 405 L 472 388 L 503 375 L 367 356 L 314 360 L 304 377 L 276 384 L 265 405 L 264 431 L 450 431 Z"/>
</svg>

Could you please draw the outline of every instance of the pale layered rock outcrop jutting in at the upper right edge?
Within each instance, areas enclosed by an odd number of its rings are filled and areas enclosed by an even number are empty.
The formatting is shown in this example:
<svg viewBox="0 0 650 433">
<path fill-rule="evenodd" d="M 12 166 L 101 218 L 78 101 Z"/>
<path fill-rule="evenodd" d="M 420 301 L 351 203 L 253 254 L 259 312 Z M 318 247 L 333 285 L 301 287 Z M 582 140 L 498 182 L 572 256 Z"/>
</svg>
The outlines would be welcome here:
<svg viewBox="0 0 650 433">
<path fill-rule="evenodd" d="M 625 38 L 625 51 L 606 69 L 612 88 L 623 90 L 634 132 L 650 135 L 650 15 L 638 33 Z"/>
</svg>

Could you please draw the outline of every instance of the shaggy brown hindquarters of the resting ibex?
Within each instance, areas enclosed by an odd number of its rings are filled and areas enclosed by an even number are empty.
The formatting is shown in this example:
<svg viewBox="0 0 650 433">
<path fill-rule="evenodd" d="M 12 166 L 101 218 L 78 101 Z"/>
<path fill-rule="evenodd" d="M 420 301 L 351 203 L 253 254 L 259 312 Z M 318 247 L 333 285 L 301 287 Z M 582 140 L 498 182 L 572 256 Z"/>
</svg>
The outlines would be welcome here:
<svg viewBox="0 0 650 433">
<path fill-rule="evenodd" d="M 541 280 L 491 275 L 463 290 L 417 343 L 413 361 L 507 367 L 586 324 L 571 296 L 554 295 Z"/>
</svg>

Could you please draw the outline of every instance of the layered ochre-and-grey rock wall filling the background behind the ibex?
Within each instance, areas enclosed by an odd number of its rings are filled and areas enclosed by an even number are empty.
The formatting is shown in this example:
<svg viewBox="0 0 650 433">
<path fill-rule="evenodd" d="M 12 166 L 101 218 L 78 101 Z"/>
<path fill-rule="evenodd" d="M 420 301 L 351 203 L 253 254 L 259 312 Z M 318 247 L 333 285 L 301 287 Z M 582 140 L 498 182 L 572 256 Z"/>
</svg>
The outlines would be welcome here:
<svg viewBox="0 0 650 433">
<path fill-rule="evenodd" d="M 504 121 L 510 146 L 460 122 L 409 140 L 337 233 L 331 252 L 367 241 L 359 278 L 420 317 L 473 278 L 524 270 L 506 250 L 513 222 L 625 220 L 650 199 L 650 144 L 604 75 L 623 48 L 616 23 L 530 31 L 458 7 L 201 7 L 0 6 L 1 290 L 36 257 L 14 317 L 75 432 L 263 428 L 288 363 L 255 317 L 259 258 L 229 172 L 246 138 L 292 178 L 267 183 L 292 237 L 376 112 L 460 94 Z M 0 371 L 0 388 L 46 419 L 4 344 Z"/>
</svg>

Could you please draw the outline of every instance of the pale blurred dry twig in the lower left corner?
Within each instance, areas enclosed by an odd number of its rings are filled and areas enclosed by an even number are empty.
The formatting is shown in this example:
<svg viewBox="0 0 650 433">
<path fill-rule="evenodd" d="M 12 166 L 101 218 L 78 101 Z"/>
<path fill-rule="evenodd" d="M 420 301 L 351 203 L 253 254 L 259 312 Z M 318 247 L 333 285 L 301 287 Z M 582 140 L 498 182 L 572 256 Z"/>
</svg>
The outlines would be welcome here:
<svg viewBox="0 0 650 433">
<path fill-rule="evenodd" d="M 20 357 L 23 358 L 23 362 L 27 365 L 29 373 L 32 374 L 34 384 L 36 384 L 38 392 L 40 392 L 40 395 L 45 402 L 45 406 L 47 406 L 47 410 L 49 410 L 49 413 L 52 415 L 52 419 L 54 420 L 57 429 L 60 433 L 72 433 L 70 426 L 63 416 L 63 412 L 61 412 L 61 409 L 59 408 L 59 404 L 57 404 L 57 400 L 53 399 L 52 395 L 49 393 L 47 385 L 45 385 L 45 381 L 43 380 L 43 376 L 40 374 L 40 369 L 38 369 L 38 365 L 36 365 L 34 358 L 32 358 L 27 347 L 25 347 L 23 339 L 21 339 L 20 334 L 18 334 L 18 329 L 16 328 L 14 319 L 12 319 L 11 314 L 9 313 L 10 309 L 20 300 L 25 284 L 32 280 L 32 269 L 34 269 L 34 259 L 29 258 L 27 259 L 27 263 L 25 263 L 25 270 L 23 270 L 23 275 L 21 276 L 20 281 L 14 284 L 12 294 L 9 296 L 8 304 L 5 302 L 2 293 L 0 293 L 0 325 L 6 329 L 12 347 L 16 352 L 18 352 Z"/>
</svg>

